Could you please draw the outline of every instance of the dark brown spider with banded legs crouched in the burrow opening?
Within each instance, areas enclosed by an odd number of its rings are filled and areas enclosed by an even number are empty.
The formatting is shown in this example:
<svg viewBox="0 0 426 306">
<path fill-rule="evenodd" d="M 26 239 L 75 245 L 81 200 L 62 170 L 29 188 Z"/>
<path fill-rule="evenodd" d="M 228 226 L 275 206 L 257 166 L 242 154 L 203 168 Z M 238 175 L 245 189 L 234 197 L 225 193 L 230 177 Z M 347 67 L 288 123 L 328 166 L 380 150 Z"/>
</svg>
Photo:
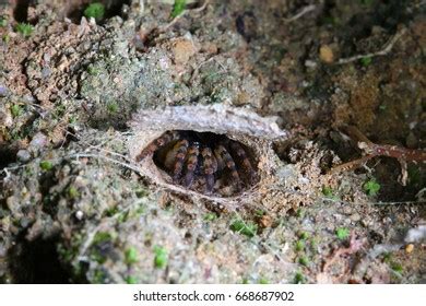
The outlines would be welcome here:
<svg viewBox="0 0 426 306">
<path fill-rule="evenodd" d="M 257 181 L 252 151 L 224 134 L 166 131 L 143 149 L 137 161 L 150 155 L 174 184 L 205 195 L 234 196 Z"/>
</svg>

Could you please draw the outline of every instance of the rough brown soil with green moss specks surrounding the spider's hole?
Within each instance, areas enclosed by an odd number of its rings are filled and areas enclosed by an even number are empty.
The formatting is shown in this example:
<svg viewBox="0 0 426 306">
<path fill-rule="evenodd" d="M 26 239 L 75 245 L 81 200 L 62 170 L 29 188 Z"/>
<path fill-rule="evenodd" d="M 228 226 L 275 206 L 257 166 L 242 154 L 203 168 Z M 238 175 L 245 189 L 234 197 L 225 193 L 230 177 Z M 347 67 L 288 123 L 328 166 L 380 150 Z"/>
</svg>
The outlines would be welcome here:
<svg viewBox="0 0 426 306">
<path fill-rule="evenodd" d="M 1 283 L 426 283 L 424 1 L 90 2 L 0 2 Z M 174 186 L 170 129 L 259 183 Z"/>
</svg>

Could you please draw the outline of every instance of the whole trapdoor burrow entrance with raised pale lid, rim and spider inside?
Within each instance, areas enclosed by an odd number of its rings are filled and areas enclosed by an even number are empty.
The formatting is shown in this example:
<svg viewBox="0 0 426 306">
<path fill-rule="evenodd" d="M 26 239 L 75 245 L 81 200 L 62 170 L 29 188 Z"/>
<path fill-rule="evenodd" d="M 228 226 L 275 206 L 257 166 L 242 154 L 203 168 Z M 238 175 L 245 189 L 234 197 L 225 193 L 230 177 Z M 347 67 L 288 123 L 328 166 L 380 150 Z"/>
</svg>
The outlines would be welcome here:
<svg viewBox="0 0 426 306">
<path fill-rule="evenodd" d="M 274 168 L 273 140 L 288 138 L 273 118 L 224 105 L 142 110 L 131 126 L 130 155 L 143 174 L 220 202 L 252 198 Z"/>
</svg>

